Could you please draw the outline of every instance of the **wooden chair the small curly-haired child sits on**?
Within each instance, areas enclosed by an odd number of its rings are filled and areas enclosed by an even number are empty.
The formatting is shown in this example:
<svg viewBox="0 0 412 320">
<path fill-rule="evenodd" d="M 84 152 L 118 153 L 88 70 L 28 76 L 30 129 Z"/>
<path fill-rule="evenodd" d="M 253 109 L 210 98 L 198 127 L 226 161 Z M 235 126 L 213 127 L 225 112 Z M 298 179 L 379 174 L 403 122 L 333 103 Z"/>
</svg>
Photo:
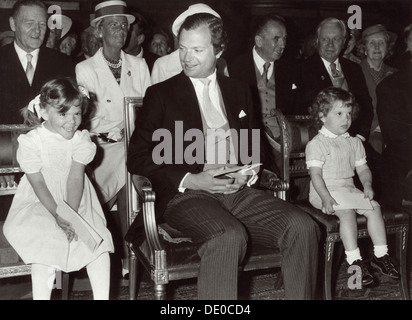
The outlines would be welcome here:
<svg viewBox="0 0 412 320">
<path fill-rule="evenodd" d="M 305 147 L 307 142 L 317 134 L 314 122 L 310 116 L 288 116 L 280 117 L 282 124 L 282 145 L 284 164 L 281 176 L 287 182 L 294 177 L 308 176 L 305 163 Z M 289 144 L 289 145 L 288 145 Z M 323 231 L 324 257 L 323 257 L 323 291 L 324 297 L 331 300 L 332 295 L 332 266 L 334 261 L 335 247 L 341 242 L 339 236 L 339 220 L 336 216 L 326 215 L 321 210 L 313 208 L 308 201 L 297 201 L 295 205 L 303 209 L 315 219 Z M 396 210 L 387 206 L 382 206 L 382 214 L 385 221 L 388 235 L 396 237 L 396 258 L 400 267 L 400 293 L 403 299 L 409 299 L 406 272 L 406 247 L 409 229 L 409 214 L 403 210 Z M 369 237 L 366 225 L 366 218 L 358 215 L 358 239 Z M 336 260 L 336 259 L 335 259 Z M 339 261 L 340 262 L 340 261 Z"/>
</svg>

